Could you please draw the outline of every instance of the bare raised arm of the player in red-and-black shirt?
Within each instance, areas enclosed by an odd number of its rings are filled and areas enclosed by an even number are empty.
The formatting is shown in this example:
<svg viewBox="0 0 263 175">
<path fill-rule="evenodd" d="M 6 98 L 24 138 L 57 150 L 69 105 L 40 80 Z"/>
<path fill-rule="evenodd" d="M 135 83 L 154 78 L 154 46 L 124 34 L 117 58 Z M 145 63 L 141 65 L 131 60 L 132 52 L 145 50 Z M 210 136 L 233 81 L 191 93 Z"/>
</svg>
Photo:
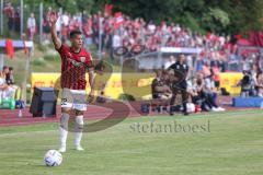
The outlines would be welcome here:
<svg viewBox="0 0 263 175">
<path fill-rule="evenodd" d="M 52 12 L 49 18 L 49 22 L 52 23 L 52 39 L 55 48 L 59 49 L 61 47 L 61 42 L 57 36 L 57 28 L 56 28 L 57 20 L 58 20 L 57 12 Z"/>
</svg>

